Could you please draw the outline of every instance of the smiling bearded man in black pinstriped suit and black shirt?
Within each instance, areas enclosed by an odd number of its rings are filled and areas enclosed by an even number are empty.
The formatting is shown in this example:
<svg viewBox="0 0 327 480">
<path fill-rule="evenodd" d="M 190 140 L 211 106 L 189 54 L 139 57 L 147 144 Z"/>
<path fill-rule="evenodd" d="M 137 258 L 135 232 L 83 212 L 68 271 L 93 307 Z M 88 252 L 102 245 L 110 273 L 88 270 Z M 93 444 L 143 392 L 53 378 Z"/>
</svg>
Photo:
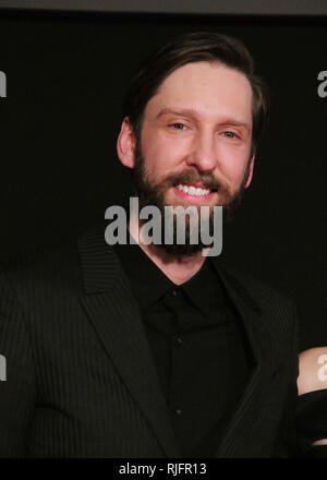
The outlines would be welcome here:
<svg viewBox="0 0 327 480">
<path fill-rule="evenodd" d="M 267 115 L 245 47 L 181 36 L 143 63 L 124 109 L 118 155 L 140 206 L 207 206 L 213 230 L 251 183 Z M 1 455 L 291 455 L 292 303 L 206 256 L 190 221 L 184 244 L 177 224 L 172 244 L 143 225 L 131 216 L 134 244 L 99 229 L 3 266 Z"/>
</svg>

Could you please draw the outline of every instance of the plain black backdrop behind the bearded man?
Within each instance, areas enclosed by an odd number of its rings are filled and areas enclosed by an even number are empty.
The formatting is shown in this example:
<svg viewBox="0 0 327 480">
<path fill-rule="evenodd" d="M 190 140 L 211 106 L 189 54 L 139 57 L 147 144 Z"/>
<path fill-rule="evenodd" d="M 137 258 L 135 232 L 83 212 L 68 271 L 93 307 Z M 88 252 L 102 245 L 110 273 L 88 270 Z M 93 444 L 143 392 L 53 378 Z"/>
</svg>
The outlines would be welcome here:
<svg viewBox="0 0 327 480">
<path fill-rule="evenodd" d="M 0 260 L 73 236 L 124 201 L 116 137 L 137 62 L 183 32 L 242 39 L 272 91 L 269 128 L 228 262 L 291 296 L 301 350 L 327 345 L 327 19 L 0 13 Z"/>
</svg>

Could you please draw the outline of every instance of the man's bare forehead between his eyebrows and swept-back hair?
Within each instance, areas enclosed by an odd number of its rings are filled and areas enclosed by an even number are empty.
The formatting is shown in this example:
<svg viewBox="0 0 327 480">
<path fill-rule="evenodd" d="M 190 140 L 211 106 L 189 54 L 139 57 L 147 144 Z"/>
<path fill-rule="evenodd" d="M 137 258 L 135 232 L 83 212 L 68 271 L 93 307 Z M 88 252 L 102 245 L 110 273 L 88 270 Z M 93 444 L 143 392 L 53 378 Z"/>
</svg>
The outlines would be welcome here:
<svg viewBox="0 0 327 480">
<path fill-rule="evenodd" d="M 167 76 L 145 113 L 165 108 L 190 108 L 207 117 L 234 116 L 251 123 L 252 87 L 242 72 L 222 63 L 187 63 Z"/>
</svg>

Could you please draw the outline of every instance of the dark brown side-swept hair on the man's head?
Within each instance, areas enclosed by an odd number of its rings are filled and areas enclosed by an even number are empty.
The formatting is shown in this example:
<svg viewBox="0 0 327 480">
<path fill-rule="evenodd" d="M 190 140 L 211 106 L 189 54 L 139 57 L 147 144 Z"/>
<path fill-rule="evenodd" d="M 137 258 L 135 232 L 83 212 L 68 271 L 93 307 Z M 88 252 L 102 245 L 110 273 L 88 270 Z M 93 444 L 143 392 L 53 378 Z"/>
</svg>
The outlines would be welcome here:
<svg viewBox="0 0 327 480">
<path fill-rule="evenodd" d="M 253 92 L 252 153 L 255 152 L 268 117 L 268 88 L 254 74 L 254 60 L 237 38 L 215 32 L 181 35 L 154 51 L 134 74 L 128 88 L 124 117 L 129 117 L 136 139 L 140 139 L 143 115 L 148 100 L 157 93 L 165 79 L 180 67 L 198 61 L 221 62 L 247 77 Z"/>
</svg>

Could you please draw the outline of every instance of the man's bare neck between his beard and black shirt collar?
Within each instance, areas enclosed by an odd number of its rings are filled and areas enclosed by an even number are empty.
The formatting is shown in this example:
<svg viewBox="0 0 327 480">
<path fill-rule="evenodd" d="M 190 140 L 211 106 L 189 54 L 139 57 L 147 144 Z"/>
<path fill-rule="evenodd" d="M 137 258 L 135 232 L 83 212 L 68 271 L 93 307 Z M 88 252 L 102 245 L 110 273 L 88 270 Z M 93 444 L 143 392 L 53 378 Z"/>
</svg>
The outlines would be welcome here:
<svg viewBox="0 0 327 480">
<path fill-rule="evenodd" d="M 144 253 L 160 268 L 160 271 L 175 285 L 182 285 L 192 278 L 204 264 L 206 256 L 203 252 L 194 255 L 172 255 L 161 247 L 155 244 L 145 244 L 141 238 L 141 228 L 138 220 L 130 221 L 130 235 L 144 251 Z"/>
</svg>

